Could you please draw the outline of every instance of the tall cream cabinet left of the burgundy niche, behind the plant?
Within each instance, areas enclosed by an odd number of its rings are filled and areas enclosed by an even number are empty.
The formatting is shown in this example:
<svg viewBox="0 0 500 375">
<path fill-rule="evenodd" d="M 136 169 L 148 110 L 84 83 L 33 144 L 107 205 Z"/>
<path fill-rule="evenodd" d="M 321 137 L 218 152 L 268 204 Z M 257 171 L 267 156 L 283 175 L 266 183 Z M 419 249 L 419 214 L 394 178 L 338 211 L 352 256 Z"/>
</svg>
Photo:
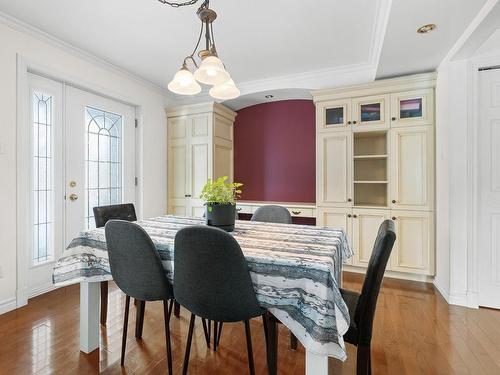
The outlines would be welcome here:
<svg viewBox="0 0 500 375">
<path fill-rule="evenodd" d="M 233 180 L 235 117 L 217 103 L 167 109 L 169 214 L 201 217 L 199 197 L 207 180 Z"/>
</svg>

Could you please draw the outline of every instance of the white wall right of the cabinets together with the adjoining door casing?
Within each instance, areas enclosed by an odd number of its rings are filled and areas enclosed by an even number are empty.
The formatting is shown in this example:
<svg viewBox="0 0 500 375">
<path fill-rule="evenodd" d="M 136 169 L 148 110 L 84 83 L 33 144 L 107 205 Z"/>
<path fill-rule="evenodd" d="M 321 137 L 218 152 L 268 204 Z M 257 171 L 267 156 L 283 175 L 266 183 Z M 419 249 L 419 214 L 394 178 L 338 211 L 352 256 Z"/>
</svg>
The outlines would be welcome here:
<svg viewBox="0 0 500 375">
<path fill-rule="evenodd" d="M 474 177 L 472 160 L 474 64 L 497 55 L 500 30 L 491 34 L 469 58 L 439 68 L 436 113 L 436 278 L 435 285 L 451 303 L 477 307 L 477 259 L 471 259 Z M 496 63 L 495 63 L 496 61 Z M 475 147 L 481 147 L 476 145 Z M 477 249 L 476 249 L 477 250 Z"/>
</svg>

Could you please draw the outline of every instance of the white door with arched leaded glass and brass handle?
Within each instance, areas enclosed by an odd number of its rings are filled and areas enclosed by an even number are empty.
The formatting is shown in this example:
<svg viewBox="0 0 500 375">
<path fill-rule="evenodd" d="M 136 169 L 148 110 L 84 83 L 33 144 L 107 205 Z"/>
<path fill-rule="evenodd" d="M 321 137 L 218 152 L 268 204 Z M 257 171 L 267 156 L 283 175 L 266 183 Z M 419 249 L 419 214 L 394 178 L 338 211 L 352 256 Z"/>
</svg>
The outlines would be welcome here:
<svg viewBox="0 0 500 375">
<path fill-rule="evenodd" d="M 65 244 L 94 228 L 93 207 L 135 200 L 135 109 L 66 87 Z"/>
</svg>

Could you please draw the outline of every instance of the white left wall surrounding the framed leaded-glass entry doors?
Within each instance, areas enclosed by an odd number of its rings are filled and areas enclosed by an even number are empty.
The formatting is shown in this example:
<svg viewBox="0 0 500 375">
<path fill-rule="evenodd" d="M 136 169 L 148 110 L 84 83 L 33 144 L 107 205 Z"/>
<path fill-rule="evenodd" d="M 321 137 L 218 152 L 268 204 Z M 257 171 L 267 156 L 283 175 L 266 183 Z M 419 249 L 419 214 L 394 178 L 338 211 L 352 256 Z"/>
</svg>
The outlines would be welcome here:
<svg viewBox="0 0 500 375">
<path fill-rule="evenodd" d="M 78 56 L 30 32 L 0 22 L 0 313 L 16 297 L 16 69 L 17 56 L 57 72 L 58 78 L 78 82 L 107 95 L 139 105 L 142 189 L 139 205 L 144 216 L 161 215 L 167 208 L 166 97 L 160 90 Z M 141 212 L 140 212 L 141 213 Z M 15 307 L 15 305 L 14 305 Z"/>
</svg>

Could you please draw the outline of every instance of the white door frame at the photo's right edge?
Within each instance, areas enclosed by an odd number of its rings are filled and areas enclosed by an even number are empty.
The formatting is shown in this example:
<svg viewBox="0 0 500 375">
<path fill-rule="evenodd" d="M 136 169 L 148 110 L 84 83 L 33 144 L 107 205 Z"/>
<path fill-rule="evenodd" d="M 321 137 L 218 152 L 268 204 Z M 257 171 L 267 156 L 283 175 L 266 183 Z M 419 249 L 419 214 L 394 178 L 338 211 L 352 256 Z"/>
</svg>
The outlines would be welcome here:
<svg viewBox="0 0 500 375">
<path fill-rule="evenodd" d="M 479 307 L 479 262 L 478 256 L 478 125 L 479 116 L 479 68 L 500 64 L 500 54 L 479 56 L 471 59 L 468 67 L 467 87 L 468 95 L 467 118 L 467 306 Z"/>
</svg>

